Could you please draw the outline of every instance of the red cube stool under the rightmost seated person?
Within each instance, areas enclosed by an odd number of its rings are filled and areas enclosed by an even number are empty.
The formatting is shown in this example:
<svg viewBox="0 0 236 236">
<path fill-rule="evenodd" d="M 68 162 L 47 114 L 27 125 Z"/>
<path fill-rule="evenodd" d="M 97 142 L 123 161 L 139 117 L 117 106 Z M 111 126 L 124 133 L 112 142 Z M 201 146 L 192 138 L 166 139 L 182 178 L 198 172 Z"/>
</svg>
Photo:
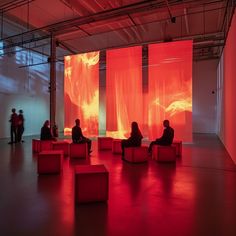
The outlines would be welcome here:
<svg viewBox="0 0 236 236">
<path fill-rule="evenodd" d="M 152 159 L 158 162 L 175 162 L 176 161 L 175 146 L 153 145 Z"/>
</svg>

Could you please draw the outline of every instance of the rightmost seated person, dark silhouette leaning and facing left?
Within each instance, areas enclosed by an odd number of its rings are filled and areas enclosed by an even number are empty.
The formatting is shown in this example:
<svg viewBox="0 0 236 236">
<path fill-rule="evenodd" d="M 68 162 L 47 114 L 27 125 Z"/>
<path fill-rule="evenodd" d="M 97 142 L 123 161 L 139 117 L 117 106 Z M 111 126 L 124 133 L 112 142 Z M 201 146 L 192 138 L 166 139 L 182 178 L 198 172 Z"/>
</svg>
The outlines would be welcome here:
<svg viewBox="0 0 236 236">
<path fill-rule="evenodd" d="M 157 138 L 155 141 L 152 141 L 149 145 L 148 152 L 151 153 L 152 146 L 154 144 L 169 146 L 172 144 L 174 139 L 174 129 L 170 127 L 169 120 L 163 121 L 163 126 L 165 127 L 163 134 L 160 138 Z"/>
</svg>

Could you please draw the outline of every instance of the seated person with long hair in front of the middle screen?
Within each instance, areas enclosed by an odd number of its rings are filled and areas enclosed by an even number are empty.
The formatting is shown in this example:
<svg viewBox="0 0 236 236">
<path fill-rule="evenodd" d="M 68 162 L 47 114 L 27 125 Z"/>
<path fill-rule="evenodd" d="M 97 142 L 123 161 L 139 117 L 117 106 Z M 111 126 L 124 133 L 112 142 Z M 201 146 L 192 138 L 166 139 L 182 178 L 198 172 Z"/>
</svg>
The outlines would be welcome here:
<svg viewBox="0 0 236 236">
<path fill-rule="evenodd" d="M 130 137 L 121 141 L 122 156 L 124 156 L 125 147 L 140 147 L 142 143 L 142 138 L 143 135 L 139 130 L 138 123 L 135 121 L 132 122 Z"/>
</svg>

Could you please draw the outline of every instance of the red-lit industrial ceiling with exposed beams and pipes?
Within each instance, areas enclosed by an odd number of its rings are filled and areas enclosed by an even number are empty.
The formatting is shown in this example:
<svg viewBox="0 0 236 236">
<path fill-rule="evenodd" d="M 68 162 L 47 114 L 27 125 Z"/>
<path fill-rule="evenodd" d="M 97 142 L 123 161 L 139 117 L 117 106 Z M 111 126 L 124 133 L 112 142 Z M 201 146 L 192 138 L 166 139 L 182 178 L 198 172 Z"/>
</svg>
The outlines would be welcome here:
<svg viewBox="0 0 236 236">
<path fill-rule="evenodd" d="M 57 58 L 154 42 L 192 39 L 194 60 L 219 58 L 235 0 L 1 0 L 4 49 Z"/>
</svg>

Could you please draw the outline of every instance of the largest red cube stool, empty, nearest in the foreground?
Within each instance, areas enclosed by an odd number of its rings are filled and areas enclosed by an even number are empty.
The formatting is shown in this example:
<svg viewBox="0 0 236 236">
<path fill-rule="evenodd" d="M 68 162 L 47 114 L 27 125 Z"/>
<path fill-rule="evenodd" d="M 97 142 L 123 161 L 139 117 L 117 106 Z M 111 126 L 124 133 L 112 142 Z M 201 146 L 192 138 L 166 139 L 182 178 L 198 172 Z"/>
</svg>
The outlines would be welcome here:
<svg viewBox="0 0 236 236">
<path fill-rule="evenodd" d="M 75 166 L 75 202 L 107 201 L 108 177 L 104 165 Z"/>
</svg>

